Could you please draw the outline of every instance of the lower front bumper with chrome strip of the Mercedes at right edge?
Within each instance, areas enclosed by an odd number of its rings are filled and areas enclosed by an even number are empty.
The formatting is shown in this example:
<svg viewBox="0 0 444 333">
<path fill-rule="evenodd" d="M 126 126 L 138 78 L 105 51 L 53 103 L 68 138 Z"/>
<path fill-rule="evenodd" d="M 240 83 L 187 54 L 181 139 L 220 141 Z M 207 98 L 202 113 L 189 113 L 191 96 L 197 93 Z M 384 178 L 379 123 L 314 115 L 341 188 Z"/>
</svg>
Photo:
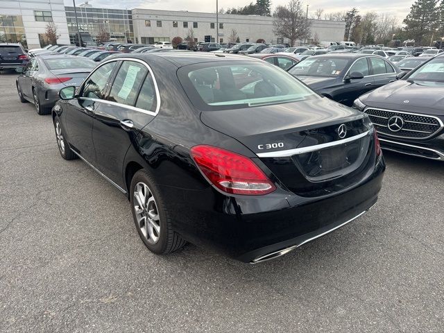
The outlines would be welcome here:
<svg viewBox="0 0 444 333">
<path fill-rule="evenodd" d="M 379 142 L 386 151 L 444 161 L 444 135 L 423 142 L 405 141 L 379 135 Z"/>
</svg>

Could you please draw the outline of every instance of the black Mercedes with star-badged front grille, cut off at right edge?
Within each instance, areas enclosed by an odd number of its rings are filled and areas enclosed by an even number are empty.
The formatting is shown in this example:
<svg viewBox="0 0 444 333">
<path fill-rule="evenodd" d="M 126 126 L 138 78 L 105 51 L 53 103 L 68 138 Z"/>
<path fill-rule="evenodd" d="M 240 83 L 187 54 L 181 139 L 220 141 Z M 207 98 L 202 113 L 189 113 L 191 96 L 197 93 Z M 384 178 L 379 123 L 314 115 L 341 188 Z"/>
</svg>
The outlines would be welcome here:
<svg viewBox="0 0 444 333">
<path fill-rule="evenodd" d="M 360 96 L 354 108 L 368 114 L 382 148 L 444 160 L 443 102 L 444 56 L 438 56 L 401 80 Z"/>
</svg>

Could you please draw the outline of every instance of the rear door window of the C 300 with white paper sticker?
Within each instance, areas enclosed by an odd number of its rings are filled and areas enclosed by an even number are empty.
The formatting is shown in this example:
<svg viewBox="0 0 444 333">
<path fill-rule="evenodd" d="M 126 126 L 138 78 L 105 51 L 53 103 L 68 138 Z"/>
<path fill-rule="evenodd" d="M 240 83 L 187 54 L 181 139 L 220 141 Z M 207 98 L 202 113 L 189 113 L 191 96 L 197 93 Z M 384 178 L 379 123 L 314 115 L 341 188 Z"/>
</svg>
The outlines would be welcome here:
<svg viewBox="0 0 444 333">
<path fill-rule="evenodd" d="M 139 62 L 125 61 L 112 83 L 109 101 L 130 105 L 135 104 L 139 87 L 144 82 L 148 69 Z"/>
</svg>

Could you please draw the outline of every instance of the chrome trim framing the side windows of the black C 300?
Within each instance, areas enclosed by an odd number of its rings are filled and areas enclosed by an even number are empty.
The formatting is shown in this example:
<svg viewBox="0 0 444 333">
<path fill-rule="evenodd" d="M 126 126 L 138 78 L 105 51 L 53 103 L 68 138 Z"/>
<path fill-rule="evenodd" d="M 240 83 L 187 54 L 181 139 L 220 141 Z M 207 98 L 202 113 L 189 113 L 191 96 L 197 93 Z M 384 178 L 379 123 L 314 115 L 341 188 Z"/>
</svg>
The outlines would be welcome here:
<svg viewBox="0 0 444 333">
<path fill-rule="evenodd" d="M 116 106 L 121 106 L 122 108 L 128 108 L 130 110 L 134 110 L 134 111 L 138 111 L 138 112 L 142 112 L 145 114 L 149 114 L 151 116 L 156 116 L 157 113 L 159 113 L 160 110 L 160 93 L 159 93 L 159 87 L 157 85 L 157 80 L 154 76 L 153 73 L 153 69 L 151 69 L 150 65 L 148 65 L 146 62 L 144 62 L 143 60 L 137 59 L 137 58 L 114 58 L 114 59 L 110 59 L 110 60 L 106 60 L 104 62 L 101 63 L 100 66 L 96 67 L 94 69 L 94 71 L 91 72 L 91 74 L 89 74 L 89 76 L 87 76 L 87 78 L 85 78 L 85 80 L 83 80 L 83 83 L 80 85 L 80 87 L 78 88 L 78 92 L 80 93 L 80 91 L 83 89 L 83 85 L 85 85 L 85 83 L 87 82 L 87 80 L 92 76 L 92 74 L 94 74 L 100 67 L 102 67 L 103 65 L 106 65 L 110 62 L 118 62 L 118 61 L 134 61 L 134 62 L 139 62 L 140 64 L 144 65 L 146 67 L 146 69 L 148 69 L 148 74 L 151 74 L 151 78 L 153 78 L 153 83 L 154 83 L 154 89 L 155 89 L 155 95 L 156 95 L 156 101 L 157 101 L 157 105 L 155 108 L 155 111 L 150 111 L 150 110 L 145 110 L 145 109 L 141 109 L 141 108 L 136 108 L 135 106 L 132 105 L 126 105 L 126 104 L 122 104 L 122 103 L 117 103 L 117 102 L 112 102 L 112 101 L 108 101 L 106 99 L 91 99 L 89 97 L 83 97 L 83 96 L 79 96 L 78 99 L 82 99 L 82 100 L 86 100 L 86 101 L 95 101 L 95 102 L 100 102 L 100 103 L 108 103 L 110 105 L 116 105 Z M 142 83 L 143 84 L 143 83 Z M 137 98 L 139 98 L 139 96 L 137 96 Z M 136 100 L 137 102 L 137 100 Z"/>
</svg>

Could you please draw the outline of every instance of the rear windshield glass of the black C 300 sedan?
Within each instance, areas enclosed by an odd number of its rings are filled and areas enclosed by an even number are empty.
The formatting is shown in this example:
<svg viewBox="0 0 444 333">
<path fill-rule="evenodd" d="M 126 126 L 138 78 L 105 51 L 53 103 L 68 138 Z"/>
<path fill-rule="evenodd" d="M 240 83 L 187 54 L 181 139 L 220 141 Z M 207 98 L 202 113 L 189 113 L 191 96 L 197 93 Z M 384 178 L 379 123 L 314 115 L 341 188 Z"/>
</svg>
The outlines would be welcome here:
<svg viewBox="0 0 444 333">
<path fill-rule="evenodd" d="M 205 66 L 205 67 L 204 67 Z M 279 67 L 265 62 L 182 67 L 179 78 L 197 107 L 227 110 L 316 98 L 316 94 Z"/>
</svg>

